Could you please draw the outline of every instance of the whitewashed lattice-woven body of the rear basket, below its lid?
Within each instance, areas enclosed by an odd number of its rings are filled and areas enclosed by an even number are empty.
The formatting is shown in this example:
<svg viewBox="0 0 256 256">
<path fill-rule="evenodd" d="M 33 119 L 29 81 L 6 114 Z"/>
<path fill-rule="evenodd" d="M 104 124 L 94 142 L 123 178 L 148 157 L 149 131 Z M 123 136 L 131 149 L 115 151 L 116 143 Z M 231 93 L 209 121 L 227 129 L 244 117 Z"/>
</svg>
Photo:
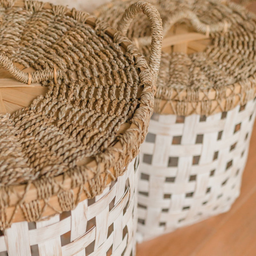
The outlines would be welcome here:
<svg viewBox="0 0 256 256">
<path fill-rule="evenodd" d="M 143 239 L 227 211 L 240 192 L 256 100 L 212 116 L 153 114 L 141 145 Z"/>
</svg>

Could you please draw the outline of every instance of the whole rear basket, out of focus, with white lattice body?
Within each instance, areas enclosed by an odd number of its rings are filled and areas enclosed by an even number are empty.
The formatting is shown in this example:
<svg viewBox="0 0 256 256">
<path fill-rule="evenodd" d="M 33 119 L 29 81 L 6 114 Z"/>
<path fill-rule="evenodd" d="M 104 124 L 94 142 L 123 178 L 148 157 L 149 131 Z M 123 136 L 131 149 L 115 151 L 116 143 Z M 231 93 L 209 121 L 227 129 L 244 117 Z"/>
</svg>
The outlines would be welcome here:
<svg viewBox="0 0 256 256">
<path fill-rule="evenodd" d="M 95 13 L 118 27 L 131 3 L 114 1 Z M 140 151 L 140 240 L 228 211 L 240 192 L 255 119 L 255 16 L 233 3 L 150 3 L 164 39 Z M 146 57 L 149 35 L 143 16 L 128 29 Z"/>
</svg>

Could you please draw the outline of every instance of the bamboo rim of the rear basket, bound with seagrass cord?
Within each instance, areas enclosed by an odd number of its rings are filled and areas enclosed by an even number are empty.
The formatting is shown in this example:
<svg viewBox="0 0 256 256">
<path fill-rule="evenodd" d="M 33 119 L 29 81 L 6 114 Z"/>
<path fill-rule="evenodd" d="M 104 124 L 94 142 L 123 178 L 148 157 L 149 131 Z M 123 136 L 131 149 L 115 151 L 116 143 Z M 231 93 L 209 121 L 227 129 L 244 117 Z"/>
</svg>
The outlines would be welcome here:
<svg viewBox="0 0 256 256">
<path fill-rule="evenodd" d="M 133 3 L 135 0 L 120 0 L 125 3 Z M 100 19 L 104 17 L 104 13 L 113 8 L 118 9 L 120 5 L 119 0 L 112 0 L 109 3 L 102 4 L 100 7 L 93 12 L 93 14 Z M 153 4 L 161 15 L 161 9 L 163 10 L 160 0 L 150 0 L 149 3 Z M 233 8 L 234 10 L 240 10 L 243 8 L 248 15 L 256 18 L 254 13 L 249 12 L 244 6 L 227 1 L 213 1 L 210 2 L 215 4 L 223 4 Z M 102 15 L 102 17 L 101 17 Z M 163 27 L 165 23 L 163 21 Z M 134 42 L 138 44 L 138 38 L 134 39 Z M 184 54 L 184 53 L 183 53 Z M 184 54 L 189 56 L 189 54 Z M 171 54 L 162 52 L 162 60 L 168 61 L 172 59 Z M 161 67 L 160 69 L 161 70 Z M 236 81 L 233 84 L 221 86 L 220 88 L 198 88 L 186 89 L 165 87 L 164 85 L 158 86 L 155 94 L 154 113 L 166 114 L 166 115 L 179 115 L 189 116 L 192 114 L 199 115 L 212 115 L 215 113 L 228 111 L 235 108 L 237 105 L 244 105 L 249 100 L 256 97 L 256 74 L 246 79 Z M 160 90 L 159 90 L 160 89 Z M 192 95 L 191 95 L 192 94 Z M 207 109 L 205 106 L 207 105 Z"/>
</svg>

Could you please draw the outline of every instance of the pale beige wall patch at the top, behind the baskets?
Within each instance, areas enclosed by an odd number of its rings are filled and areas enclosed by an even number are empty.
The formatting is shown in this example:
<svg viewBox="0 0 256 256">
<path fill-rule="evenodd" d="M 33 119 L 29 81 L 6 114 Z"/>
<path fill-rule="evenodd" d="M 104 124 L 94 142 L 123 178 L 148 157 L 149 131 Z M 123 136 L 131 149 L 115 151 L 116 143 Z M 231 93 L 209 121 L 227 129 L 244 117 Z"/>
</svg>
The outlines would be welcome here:
<svg viewBox="0 0 256 256">
<path fill-rule="evenodd" d="M 111 0 L 42 0 L 53 4 L 67 5 L 68 8 L 76 8 L 80 11 L 92 12 L 101 4 Z"/>
</svg>

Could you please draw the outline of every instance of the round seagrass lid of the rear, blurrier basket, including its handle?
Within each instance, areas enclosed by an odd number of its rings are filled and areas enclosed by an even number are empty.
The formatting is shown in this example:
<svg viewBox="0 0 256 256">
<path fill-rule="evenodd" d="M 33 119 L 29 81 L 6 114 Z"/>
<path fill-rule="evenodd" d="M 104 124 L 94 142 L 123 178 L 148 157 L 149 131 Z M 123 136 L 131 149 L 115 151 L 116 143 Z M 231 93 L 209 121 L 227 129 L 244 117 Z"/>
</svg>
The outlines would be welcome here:
<svg viewBox="0 0 256 256">
<path fill-rule="evenodd" d="M 95 15 L 118 27 L 133 0 L 102 5 Z M 256 18 L 244 7 L 208 0 L 151 0 L 163 20 L 163 53 L 154 111 L 210 115 L 255 97 Z M 128 38 L 147 57 L 150 27 L 133 20 Z"/>
</svg>

